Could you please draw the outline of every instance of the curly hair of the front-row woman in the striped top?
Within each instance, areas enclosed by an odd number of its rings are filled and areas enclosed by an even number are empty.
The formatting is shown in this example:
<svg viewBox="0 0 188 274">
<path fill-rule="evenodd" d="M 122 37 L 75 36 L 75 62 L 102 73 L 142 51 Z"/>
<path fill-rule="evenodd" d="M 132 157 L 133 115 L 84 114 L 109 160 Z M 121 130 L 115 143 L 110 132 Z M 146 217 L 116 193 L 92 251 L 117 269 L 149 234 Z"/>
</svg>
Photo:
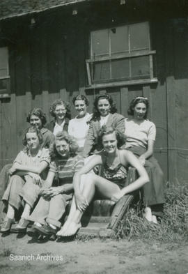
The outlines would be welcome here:
<svg viewBox="0 0 188 274">
<path fill-rule="evenodd" d="M 51 156 L 52 160 L 61 158 L 61 155 L 59 155 L 58 151 L 56 150 L 56 141 L 57 140 L 58 141 L 65 140 L 65 142 L 67 142 L 69 144 L 71 157 L 74 157 L 75 155 L 77 155 L 77 150 L 78 150 L 79 146 L 78 146 L 75 138 L 68 135 L 68 132 L 63 131 L 63 132 L 57 133 L 54 142 L 49 147 L 49 155 Z"/>
</svg>

